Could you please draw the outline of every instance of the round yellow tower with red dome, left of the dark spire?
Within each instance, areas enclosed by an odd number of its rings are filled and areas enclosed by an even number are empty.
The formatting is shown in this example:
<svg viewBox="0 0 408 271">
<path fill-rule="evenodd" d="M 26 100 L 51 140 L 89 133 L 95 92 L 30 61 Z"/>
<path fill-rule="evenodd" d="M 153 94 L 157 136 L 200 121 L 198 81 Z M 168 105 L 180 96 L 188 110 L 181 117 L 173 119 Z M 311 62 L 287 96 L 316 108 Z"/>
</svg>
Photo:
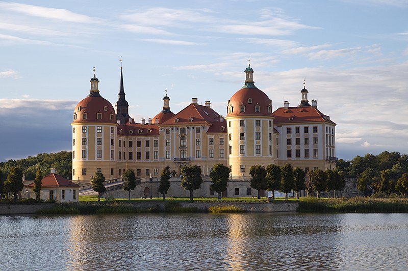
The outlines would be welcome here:
<svg viewBox="0 0 408 271">
<path fill-rule="evenodd" d="M 90 80 L 91 90 L 77 104 L 72 126 L 72 179 L 88 182 L 95 172 L 107 179 L 118 177 L 116 168 L 116 115 L 112 104 L 99 94 L 99 80 Z"/>
</svg>

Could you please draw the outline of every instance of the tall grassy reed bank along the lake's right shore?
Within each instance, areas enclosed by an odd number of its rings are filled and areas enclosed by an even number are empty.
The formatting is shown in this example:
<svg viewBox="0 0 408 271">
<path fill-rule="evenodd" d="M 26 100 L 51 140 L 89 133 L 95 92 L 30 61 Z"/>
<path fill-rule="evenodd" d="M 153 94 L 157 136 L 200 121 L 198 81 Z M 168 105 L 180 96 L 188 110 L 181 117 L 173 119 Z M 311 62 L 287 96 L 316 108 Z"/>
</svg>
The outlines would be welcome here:
<svg viewBox="0 0 408 271">
<path fill-rule="evenodd" d="M 297 212 L 408 213 L 407 198 L 301 198 Z"/>
</svg>

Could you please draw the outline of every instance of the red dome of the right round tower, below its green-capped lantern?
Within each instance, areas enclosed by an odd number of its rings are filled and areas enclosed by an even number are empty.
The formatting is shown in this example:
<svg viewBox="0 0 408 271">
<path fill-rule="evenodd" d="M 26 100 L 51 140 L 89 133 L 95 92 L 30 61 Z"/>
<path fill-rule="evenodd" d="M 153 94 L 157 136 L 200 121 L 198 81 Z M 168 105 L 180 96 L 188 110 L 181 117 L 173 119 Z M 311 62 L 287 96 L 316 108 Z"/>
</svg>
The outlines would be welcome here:
<svg viewBox="0 0 408 271">
<path fill-rule="evenodd" d="M 245 84 L 245 86 L 247 86 L 247 84 Z M 231 100 L 228 102 L 227 116 L 272 115 L 272 101 L 268 95 L 253 84 L 249 86 L 252 87 L 241 88 L 231 97 Z M 241 112 L 241 106 L 245 106 L 244 112 Z M 259 111 L 256 109 L 259 109 Z"/>
</svg>

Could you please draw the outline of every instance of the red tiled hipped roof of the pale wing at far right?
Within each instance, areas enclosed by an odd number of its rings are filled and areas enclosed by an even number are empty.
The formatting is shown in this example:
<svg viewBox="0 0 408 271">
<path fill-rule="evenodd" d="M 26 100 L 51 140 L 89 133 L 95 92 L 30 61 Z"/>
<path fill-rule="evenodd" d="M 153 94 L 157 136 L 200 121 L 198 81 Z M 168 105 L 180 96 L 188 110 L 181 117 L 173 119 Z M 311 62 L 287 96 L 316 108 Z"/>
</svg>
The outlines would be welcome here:
<svg viewBox="0 0 408 271">
<path fill-rule="evenodd" d="M 279 107 L 273 112 L 275 124 L 326 122 L 336 125 L 329 117 L 312 106 Z"/>
</svg>

